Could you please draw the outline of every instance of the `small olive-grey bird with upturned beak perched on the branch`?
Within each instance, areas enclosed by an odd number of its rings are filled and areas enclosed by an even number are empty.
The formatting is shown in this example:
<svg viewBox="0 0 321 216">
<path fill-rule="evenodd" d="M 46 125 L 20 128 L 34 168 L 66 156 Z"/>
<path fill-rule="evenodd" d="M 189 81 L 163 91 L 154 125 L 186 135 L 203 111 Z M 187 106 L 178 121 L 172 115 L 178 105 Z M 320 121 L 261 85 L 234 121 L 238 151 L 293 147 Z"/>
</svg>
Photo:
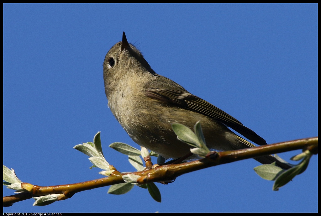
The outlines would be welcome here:
<svg viewBox="0 0 321 216">
<path fill-rule="evenodd" d="M 111 112 L 134 142 L 166 159 L 183 157 L 191 148 L 177 139 L 173 123 L 192 129 L 200 121 L 206 144 L 218 151 L 255 147 L 228 127 L 256 144 L 266 144 L 229 114 L 155 73 L 141 52 L 127 42 L 125 32 L 123 40 L 108 51 L 103 69 Z M 280 167 L 289 168 L 271 155 L 255 159 L 263 164 L 276 161 Z"/>
</svg>

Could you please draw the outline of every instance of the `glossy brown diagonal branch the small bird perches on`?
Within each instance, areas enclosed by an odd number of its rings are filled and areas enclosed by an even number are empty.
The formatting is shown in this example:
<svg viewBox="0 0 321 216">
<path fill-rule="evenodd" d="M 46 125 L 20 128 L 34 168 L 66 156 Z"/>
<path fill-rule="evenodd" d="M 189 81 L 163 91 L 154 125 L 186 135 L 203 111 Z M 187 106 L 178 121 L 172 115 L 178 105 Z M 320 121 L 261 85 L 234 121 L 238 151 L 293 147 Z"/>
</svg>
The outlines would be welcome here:
<svg viewBox="0 0 321 216">
<path fill-rule="evenodd" d="M 146 184 L 157 181 L 169 181 L 175 179 L 180 175 L 193 172 L 195 170 L 230 163 L 238 160 L 253 158 L 257 156 L 292 151 L 297 149 L 303 149 L 304 151 L 308 149 L 313 154 L 317 154 L 318 138 L 312 137 L 306 139 L 299 139 L 289 142 L 275 143 L 271 145 L 263 145 L 255 148 L 241 149 L 235 151 L 212 151 L 204 159 L 194 160 L 191 162 L 181 164 L 169 164 L 158 166 L 152 169 L 147 169 L 139 172 L 132 172 L 131 174 L 141 176 L 137 179 L 137 183 L 140 184 Z M 31 197 L 43 196 L 48 194 L 61 194 L 57 198 L 57 201 L 64 200 L 72 197 L 75 193 L 84 190 L 90 190 L 98 187 L 124 183 L 122 176 L 126 174 L 129 173 L 120 173 L 118 171 L 115 171 L 109 177 L 69 185 L 37 186 L 31 185 L 29 183 L 22 183 L 21 187 L 23 189 L 26 189 L 28 192 L 23 192 L 11 196 L 5 196 L 3 198 L 3 206 L 11 206 L 13 203 L 25 199 L 30 199 Z"/>
</svg>

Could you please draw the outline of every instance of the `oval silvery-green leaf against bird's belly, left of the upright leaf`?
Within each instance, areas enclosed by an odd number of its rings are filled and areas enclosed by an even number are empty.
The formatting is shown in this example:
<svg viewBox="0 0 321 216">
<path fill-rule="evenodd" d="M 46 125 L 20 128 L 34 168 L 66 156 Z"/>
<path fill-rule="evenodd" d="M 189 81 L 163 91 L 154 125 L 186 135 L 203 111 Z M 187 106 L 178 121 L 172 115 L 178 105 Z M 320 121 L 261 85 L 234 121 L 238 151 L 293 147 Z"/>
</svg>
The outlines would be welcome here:
<svg viewBox="0 0 321 216">
<path fill-rule="evenodd" d="M 187 126 L 182 124 L 172 124 L 172 128 L 179 140 L 193 147 L 200 146 L 196 134 L 194 134 L 193 131 L 189 129 Z"/>
</svg>

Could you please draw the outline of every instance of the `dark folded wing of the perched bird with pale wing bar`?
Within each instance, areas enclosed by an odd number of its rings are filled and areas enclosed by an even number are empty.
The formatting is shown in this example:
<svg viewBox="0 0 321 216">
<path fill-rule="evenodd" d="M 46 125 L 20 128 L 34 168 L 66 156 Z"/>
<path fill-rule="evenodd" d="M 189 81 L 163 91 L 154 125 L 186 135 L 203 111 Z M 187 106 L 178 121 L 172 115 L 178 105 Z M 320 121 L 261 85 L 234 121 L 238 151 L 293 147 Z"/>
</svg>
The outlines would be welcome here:
<svg viewBox="0 0 321 216">
<path fill-rule="evenodd" d="M 173 81 L 172 81 L 173 82 Z M 177 84 L 177 83 L 175 83 Z M 178 85 L 178 84 L 177 84 Z M 164 86 L 162 86 L 164 87 Z M 189 109 L 211 117 L 222 124 L 232 128 L 242 134 L 247 139 L 259 145 L 265 145 L 266 141 L 257 135 L 254 131 L 244 126 L 237 119 L 233 118 L 221 109 L 213 106 L 209 102 L 189 93 L 183 87 L 178 90 L 169 90 L 169 88 L 147 88 L 146 95 L 152 99 L 162 100 L 180 108 Z"/>
</svg>

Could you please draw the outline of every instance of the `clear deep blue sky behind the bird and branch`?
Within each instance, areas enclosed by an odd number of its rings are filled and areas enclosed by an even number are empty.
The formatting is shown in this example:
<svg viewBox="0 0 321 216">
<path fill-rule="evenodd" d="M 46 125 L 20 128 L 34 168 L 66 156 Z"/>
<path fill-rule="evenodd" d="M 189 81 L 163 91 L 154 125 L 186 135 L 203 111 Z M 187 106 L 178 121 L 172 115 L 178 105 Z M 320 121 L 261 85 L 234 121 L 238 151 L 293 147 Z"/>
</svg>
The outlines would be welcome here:
<svg viewBox="0 0 321 216">
<path fill-rule="evenodd" d="M 102 63 L 123 31 L 157 73 L 267 143 L 317 136 L 317 19 L 317 4 L 4 4 L 3 163 L 41 186 L 100 178 L 73 147 L 101 131 L 108 162 L 135 170 L 108 148 L 138 148 L 104 92 Z M 112 195 L 104 187 L 4 212 L 318 212 L 317 163 L 313 156 L 280 191 L 256 175 L 258 162 L 244 160 L 157 184 L 162 203 L 142 188 Z"/>
</svg>

